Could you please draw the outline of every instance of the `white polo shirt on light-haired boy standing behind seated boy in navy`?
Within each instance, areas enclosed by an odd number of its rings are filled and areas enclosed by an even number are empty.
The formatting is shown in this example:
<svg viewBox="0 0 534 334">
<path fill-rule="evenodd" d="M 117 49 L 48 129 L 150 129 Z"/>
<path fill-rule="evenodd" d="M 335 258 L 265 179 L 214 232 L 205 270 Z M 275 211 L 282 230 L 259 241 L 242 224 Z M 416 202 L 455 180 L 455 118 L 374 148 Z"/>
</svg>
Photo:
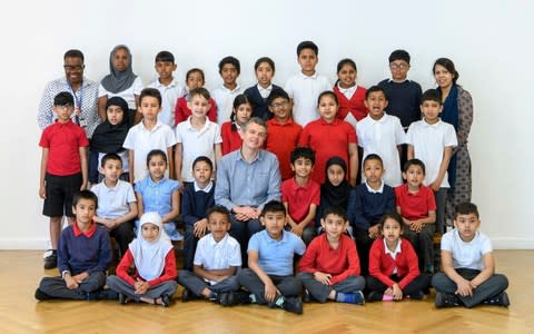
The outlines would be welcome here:
<svg viewBox="0 0 534 334">
<path fill-rule="evenodd" d="M 181 177 L 186 181 L 194 181 L 192 163 L 197 157 L 208 157 L 215 166 L 214 145 L 222 143 L 220 126 L 206 117 L 206 124 L 200 130 L 191 126 L 191 116 L 179 122 L 175 129 L 176 143 L 181 143 Z"/>
</svg>

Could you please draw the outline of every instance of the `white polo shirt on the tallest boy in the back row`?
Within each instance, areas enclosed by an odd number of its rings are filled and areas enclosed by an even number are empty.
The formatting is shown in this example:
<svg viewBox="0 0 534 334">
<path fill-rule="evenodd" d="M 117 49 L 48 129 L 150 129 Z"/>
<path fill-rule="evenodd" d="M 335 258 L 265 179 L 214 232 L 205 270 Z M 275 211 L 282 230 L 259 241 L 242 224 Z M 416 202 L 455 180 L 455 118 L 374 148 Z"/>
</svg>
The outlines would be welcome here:
<svg viewBox="0 0 534 334">
<path fill-rule="evenodd" d="M 284 90 L 293 99 L 293 119 L 305 127 L 312 120 L 319 118 L 317 98 L 325 90 L 332 90 L 328 78 L 315 72 L 306 76 L 299 72 L 289 78 Z"/>
</svg>

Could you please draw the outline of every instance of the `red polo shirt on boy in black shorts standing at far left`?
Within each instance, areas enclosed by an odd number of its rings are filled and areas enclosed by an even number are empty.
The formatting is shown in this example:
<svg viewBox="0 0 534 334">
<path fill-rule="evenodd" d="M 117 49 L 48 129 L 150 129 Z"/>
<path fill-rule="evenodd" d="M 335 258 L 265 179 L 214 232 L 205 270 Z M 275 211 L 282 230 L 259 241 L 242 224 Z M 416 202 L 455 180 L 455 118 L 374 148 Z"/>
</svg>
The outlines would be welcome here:
<svg viewBox="0 0 534 334">
<path fill-rule="evenodd" d="M 80 147 L 89 146 L 86 131 L 71 120 L 44 128 L 39 146 L 48 148 L 47 173 L 56 176 L 73 175 L 81 171 Z"/>
</svg>

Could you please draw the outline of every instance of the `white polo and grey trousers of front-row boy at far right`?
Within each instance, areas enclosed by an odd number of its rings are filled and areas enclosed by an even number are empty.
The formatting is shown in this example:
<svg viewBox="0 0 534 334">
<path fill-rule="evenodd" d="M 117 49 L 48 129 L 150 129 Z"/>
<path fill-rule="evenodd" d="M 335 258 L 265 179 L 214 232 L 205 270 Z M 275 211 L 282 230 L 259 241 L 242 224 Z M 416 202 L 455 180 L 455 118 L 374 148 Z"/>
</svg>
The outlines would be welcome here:
<svg viewBox="0 0 534 334">
<path fill-rule="evenodd" d="M 493 252 L 492 242 L 481 232 L 476 232 L 473 240 L 462 240 L 458 229 L 454 228 L 442 237 L 442 250 L 449 252 L 453 256 L 453 267 L 467 281 L 475 278 L 484 269 L 484 255 Z M 455 294 L 457 285 L 444 272 L 432 278 L 432 285 L 438 292 Z M 474 291 L 472 296 L 456 295 L 467 307 L 481 304 L 483 301 L 498 295 L 508 286 L 508 279 L 502 274 L 493 274 Z"/>
</svg>

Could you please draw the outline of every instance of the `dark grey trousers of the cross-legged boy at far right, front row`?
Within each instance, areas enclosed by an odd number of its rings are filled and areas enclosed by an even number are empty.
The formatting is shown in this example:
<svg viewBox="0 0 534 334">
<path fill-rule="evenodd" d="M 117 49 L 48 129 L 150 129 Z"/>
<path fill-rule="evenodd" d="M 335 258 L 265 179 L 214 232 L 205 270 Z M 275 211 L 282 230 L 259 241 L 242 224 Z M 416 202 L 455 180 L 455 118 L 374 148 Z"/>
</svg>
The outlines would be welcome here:
<svg viewBox="0 0 534 334">
<path fill-rule="evenodd" d="M 457 268 L 456 273 L 459 276 L 464 277 L 467 281 L 475 278 L 481 272 L 475 269 L 468 268 Z M 456 283 L 453 279 L 448 278 L 444 272 L 436 273 L 432 277 L 432 285 L 436 288 L 436 291 L 447 294 L 454 294 L 457 289 Z M 473 307 L 481 304 L 484 299 L 498 295 L 508 287 L 508 278 L 501 274 L 494 274 L 492 277 L 487 278 L 475 288 L 473 296 L 462 297 L 457 295 L 458 298 L 464 303 L 467 307 Z"/>
</svg>

